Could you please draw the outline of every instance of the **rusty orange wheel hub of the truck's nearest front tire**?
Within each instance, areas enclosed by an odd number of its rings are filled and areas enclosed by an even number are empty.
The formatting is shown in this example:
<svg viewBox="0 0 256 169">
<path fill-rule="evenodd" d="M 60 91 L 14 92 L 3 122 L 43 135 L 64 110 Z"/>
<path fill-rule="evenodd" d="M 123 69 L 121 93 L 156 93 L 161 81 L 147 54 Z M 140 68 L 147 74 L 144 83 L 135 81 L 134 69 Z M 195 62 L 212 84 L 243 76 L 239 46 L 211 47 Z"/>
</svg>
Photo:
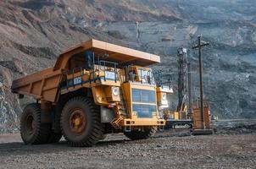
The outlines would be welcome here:
<svg viewBox="0 0 256 169">
<path fill-rule="evenodd" d="M 86 128 L 86 117 L 81 109 L 76 109 L 70 115 L 70 130 L 81 134 Z"/>
</svg>

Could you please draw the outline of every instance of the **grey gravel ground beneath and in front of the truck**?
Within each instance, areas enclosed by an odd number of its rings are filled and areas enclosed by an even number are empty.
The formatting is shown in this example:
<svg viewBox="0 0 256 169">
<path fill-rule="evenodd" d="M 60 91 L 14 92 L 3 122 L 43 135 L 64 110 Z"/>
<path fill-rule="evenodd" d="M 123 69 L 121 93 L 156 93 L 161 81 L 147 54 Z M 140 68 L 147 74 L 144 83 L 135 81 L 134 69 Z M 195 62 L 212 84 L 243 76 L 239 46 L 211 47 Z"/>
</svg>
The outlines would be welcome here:
<svg viewBox="0 0 256 169">
<path fill-rule="evenodd" d="M 112 134 L 89 148 L 25 145 L 19 134 L 1 134 L 0 168 L 255 168 L 255 128 L 244 133 L 192 136 L 183 128 L 137 141 Z"/>
</svg>

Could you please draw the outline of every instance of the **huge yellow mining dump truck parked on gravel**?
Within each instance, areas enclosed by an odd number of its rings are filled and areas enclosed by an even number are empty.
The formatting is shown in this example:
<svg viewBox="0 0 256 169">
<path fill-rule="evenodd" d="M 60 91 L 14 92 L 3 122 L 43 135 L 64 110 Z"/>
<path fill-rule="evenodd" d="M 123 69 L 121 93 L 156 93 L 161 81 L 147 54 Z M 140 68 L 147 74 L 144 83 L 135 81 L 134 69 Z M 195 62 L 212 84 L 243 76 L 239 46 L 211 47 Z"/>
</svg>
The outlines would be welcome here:
<svg viewBox="0 0 256 169">
<path fill-rule="evenodd" d="M 81 43 L 58 57 L 53 68 L 16 79 L 12 91 L 36 102 L 25 106 L 20 133 L 25 144 L 64 138 L 90 146 L 106 134 L 147 139 L 165 121 L 169 87 L 155 85 L 151 68 L 160 57 L 103 41 Z"/>
</svg>

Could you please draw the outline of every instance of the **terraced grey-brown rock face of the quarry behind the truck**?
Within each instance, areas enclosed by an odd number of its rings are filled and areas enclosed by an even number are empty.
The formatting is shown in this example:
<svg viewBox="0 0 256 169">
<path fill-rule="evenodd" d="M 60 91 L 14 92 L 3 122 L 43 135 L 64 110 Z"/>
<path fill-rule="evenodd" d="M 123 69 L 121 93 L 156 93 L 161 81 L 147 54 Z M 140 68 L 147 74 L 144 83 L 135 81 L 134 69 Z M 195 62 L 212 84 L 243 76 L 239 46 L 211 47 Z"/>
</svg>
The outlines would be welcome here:
<svg viewBox="0 0 256 169">
<path fill-rule="evenodd" d="M 13 0 L 0 2 L 0 132 L 19 126 L 25 103 L 12 80 L 53 66 L 58 54 L 89 38 L 162 57 L 154 69 L 176 74 L 176 49 L 199 34 L 204 93 L 220 117 L 256 117 L 256 3 L 253 0 Z M 189 50 L 194 98 L 198 55 Z"/>
</svg>

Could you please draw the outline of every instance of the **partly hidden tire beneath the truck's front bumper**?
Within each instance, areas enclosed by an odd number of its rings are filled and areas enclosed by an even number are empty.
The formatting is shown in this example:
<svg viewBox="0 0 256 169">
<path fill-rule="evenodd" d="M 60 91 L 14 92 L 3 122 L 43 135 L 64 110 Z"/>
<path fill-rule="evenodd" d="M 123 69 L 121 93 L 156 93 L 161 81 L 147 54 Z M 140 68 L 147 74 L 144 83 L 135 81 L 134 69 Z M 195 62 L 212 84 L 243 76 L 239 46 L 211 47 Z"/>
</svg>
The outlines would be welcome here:
<svg viewBox="0 0 256 169">
<path fill-rule="evenodd" d="M 131 132 L 124 132 L 129 139 L 148 139 L 152 137 L 157 131 L 156 127 L 144 128 L 144 130 L 131 130 Z"/>
</svg>

